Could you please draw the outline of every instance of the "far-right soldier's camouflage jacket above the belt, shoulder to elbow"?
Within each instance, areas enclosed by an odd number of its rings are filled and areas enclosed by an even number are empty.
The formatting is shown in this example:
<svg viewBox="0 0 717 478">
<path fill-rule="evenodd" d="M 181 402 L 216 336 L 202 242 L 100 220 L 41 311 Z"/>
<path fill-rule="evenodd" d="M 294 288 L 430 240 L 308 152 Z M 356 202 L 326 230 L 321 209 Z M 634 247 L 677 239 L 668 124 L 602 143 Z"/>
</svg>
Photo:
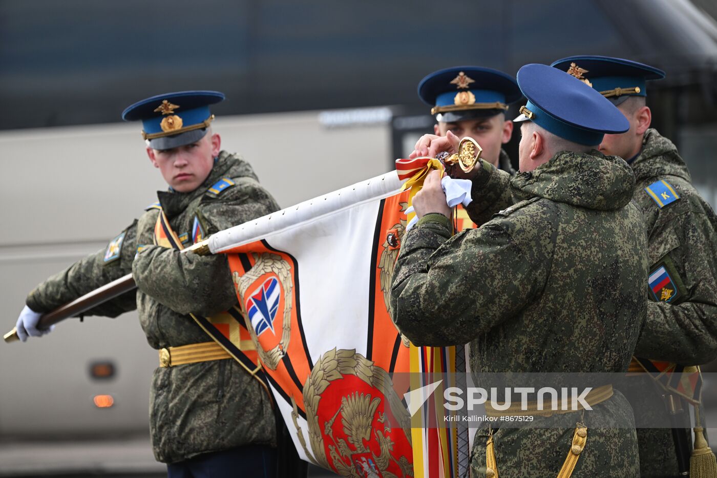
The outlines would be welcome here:
<svg viewBox="0 0 717 478">
<path fill-rule="evenodd" d="M 690 183 L 675 145 L 648 129 L 632 162 L 633 198 L 647 225 L 650 276 L 661 267 L 670 283 L 652 294 L 635 355 L 701 365 L 717 358 L 717 216 Z M 679 196 L 661 207 L 645 189 L 662 181 Z M 655 188 L 650 188 L 655 189 Z M 657 193 L 659 194 L 659 193 Z M 673 192 L 665 191 L 668 199 Z M 664 204 L 664 202 L 663 202 Z"/>
</svg>

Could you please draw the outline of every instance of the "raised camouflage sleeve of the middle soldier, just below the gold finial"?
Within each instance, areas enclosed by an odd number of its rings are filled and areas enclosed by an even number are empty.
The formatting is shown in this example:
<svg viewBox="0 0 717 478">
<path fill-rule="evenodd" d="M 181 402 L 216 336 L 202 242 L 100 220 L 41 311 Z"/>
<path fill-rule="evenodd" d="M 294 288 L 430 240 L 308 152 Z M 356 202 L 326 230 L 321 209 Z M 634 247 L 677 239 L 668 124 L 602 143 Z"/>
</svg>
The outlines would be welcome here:
<svg viewBox="0 0 717 478">
<path fill-rule="evenodd" d="M 480 169 L 472 181 L 470 197 L 473 202 L 465 210 L 476 224 L 485 224 L 496 212 L 513 205 L 510 173 L 481 159 Z"/>
</svg>

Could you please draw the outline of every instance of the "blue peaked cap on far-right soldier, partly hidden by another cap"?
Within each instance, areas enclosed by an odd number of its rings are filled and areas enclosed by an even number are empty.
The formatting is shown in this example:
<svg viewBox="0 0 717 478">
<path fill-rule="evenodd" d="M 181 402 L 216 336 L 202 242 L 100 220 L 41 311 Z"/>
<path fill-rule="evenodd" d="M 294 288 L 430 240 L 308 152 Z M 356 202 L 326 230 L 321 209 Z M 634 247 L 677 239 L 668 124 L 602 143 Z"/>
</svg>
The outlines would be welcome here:
<svg viewBox="0 0 717 478">
<path fill-rule="evenodd" d="M 551 64 L 589 84 L 612 103 L 619 105 L 630 96 L 647 96 L 648 80 L 662 80 L 659 68 L 624 58 L 578 55 L 556 60 Z"/>
</svg>

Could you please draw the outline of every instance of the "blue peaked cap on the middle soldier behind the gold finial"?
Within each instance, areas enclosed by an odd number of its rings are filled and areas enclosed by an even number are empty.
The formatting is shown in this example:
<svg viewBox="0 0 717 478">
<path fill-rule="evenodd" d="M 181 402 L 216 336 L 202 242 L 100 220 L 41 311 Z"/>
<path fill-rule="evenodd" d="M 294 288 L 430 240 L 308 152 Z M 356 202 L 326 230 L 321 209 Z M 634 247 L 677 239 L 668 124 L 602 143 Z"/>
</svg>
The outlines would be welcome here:
<svg viewBox="0 0 717 478">
<path fill-rule="evenodd" d="M 495 116 L 521 99 L 518 83 L 492 68 L 458 66 L 438 70 L 418 84 L 418 96 L 437 121 Z"/>
</svg>

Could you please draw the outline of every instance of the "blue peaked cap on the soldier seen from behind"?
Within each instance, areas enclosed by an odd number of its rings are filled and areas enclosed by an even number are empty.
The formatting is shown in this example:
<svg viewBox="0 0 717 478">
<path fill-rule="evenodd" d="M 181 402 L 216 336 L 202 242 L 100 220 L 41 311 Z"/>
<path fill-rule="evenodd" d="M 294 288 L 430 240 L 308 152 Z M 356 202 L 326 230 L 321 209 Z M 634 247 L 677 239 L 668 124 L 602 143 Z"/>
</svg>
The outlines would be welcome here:
<svg viewBox="0 0 717 478">
<path fill-rule="evenodd" d="M 630 123 L 607 98 L 548 65 L 531 63 L 518 70 L 518 85 L 528 104 L 514 121 L 531 120 L 541 128 L 573 141 L 594 146 L 605 133 L 625 133 Z"/>
</svg>

